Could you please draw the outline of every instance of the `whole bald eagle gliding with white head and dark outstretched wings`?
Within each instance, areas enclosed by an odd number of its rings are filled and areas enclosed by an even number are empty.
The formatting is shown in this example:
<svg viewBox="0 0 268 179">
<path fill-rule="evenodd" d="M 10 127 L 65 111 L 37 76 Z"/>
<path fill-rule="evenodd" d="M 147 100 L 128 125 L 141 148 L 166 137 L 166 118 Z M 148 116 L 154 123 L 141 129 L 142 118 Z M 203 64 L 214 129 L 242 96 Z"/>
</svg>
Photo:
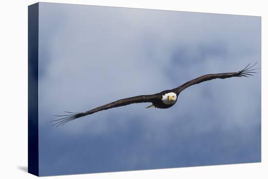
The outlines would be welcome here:
<svg viewBox="0 0 268 179">
<path fill-rule="evenodd" d="M 107 109 L 111 109 L 111 108 L 119 107 L 119 106 L 125 106 L 125 105 L 129 105 L 129 104 L 133 104 L 133 103 L 151 102 L 152 104 L 146 108 L 150 108 L 150 107 L 161 108 L 161 109 L 170 108 L 176 103 L 176 101 L 178 99 L 178 95 L 180 94 L 180 92 L 182 92 L 184 89 L 188 88 L 189 86 L 191 86 L 193 84 L 198 84 L 198 83 L 201 83 L 204 81 L 208 81 L 208 80 L 213 80 L 213 79 L 226 79 L 226 78 L 231 78 L 231 77 L 253 76 L 252 74 L 256 73 L 256 72 L 254 72 L 254 70 L 259 69 L 259 68 L 252 69 L 252 67 L 256 63 L 254 63 L 251 66 L 249 63 L 243 70 L 240 70 L 238 72 L 203 75 L 201 77 L 198 77 L 196 79 L 188 81 L 188 82 L 182 84 L 181 86 L 179 86 L 177 88 L 173 88 L 171 90 L 165 90 L 165 91 L 162 91 L 160 93 L 153 94 L 153 95 L 140 95 L 140 96 L 135 96 L 135 97 L 131 97 L 131 98 L 119 99 L 119 100 L 116 100 L 114 102 L 105 104 L 103 106 L 99 106 L 97 108 L 91 109 L 91 110 L 86 111 L 86 112 L 73 113 L 73 112 L 65 111 L 66 113 L 69 113 L 69 114 L 68 115 L 57 115 L 56 117 L 60 117 L 60 119 L 52 120 L 52 122 L 55 122 L 53 124 L 53 126 L 54 125 L 56 125 L 56 126 L 64 125 L 65 123 L 67 123 L 71 120 L 81 118 L 81 117 L 96 113 L 98 111 L 107 110 Z"/>
</svg>

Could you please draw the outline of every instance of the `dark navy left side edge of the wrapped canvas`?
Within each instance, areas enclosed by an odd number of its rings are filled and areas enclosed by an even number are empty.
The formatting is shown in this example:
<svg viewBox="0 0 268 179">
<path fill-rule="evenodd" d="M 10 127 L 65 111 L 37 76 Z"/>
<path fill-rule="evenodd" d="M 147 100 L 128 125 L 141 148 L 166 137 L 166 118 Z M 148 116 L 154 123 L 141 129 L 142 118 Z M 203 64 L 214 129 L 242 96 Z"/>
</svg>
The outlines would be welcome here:
<svg viewBox="0 0 268 179">
<path fill-rule="evenodd" d="M 28 6 L 28 173 L 39 176 L 38 152 L 38 11 Z"/>
</svg>

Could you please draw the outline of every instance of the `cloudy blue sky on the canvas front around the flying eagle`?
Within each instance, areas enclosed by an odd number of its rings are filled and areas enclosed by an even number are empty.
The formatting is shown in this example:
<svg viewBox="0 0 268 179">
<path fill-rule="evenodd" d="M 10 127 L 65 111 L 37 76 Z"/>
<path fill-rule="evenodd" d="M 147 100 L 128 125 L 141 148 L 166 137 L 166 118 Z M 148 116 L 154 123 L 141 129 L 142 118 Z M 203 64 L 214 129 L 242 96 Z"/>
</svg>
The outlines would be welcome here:
<svg viewBox="0 0 268 179">
<path fill-rule="evenodd" d="M 39 3 L 40 176 L 261 161 L 261 69 L 60 127 L 53 115 L 261 67 L 261 18 Z"/>
</svg>

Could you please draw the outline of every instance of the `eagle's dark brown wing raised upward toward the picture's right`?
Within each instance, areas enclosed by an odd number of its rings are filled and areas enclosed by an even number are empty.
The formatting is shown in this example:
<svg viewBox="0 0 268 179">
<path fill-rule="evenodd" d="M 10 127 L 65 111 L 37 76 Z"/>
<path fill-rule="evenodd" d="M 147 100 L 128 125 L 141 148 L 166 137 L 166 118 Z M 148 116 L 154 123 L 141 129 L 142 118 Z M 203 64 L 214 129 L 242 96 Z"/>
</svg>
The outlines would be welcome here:
<svg viewBox="0 0 268 179">
<path fill-rule="evenodd" d="M 184 83 L 183 85 L 181 85 L 181 86 L 179 86 L 177 88 L 172 89 L 172 91 L 178 95 L 182 90 L 188 88 L 191 85 L 198 84 L 200 82 L 204 82 L 204 81 L 208 81 L 208 80 L 213 80 L 213 79 L 226 79 L 226 78 L 231 78 L 231 77 L 248 77 L 248 76 L 253 76 L 252 73 L 256 73 L 256 72 L 254 72 L 254 70 L 259 69 L 259 68 L 252 69 L 252 67 L 256 63 L 254 63 L 252 66 L 250 66 L 250 63 L 249 63 L 243 70 L 240 70 L 239 72 L 217 73 L 217 74 L 203 75 L 203 76 L 198 77 L 198 78 L 196 78 L 194 80 L 188 81 L 188 82 Z"/>
</svg>

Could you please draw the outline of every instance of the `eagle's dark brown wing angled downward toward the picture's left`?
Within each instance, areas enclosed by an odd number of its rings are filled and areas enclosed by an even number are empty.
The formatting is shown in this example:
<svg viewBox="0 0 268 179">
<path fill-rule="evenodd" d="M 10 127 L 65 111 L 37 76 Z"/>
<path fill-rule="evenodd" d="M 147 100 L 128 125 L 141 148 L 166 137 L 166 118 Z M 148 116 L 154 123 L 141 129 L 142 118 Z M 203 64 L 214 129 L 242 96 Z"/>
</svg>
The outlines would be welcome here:
<svg viewBox="0 0 268 179">
<path fill-rule="evenodd" d="M 57 117 L 61 117 L 60 119 L 56 119 L 56 120 L 52 120 L 52 122 L 56 122 L 53 124 L 54 125 L 64 125 L 65 123 L 77 119 L 77 118 L 81 118 L 83 116 L 87 116 L 93 113 L 96 113 L 98 111 L 102 111 L 102 110 L 106 110 L 106 109 L 111 109 L 114 107 L 119 107 L 119 106 L 125 106 L 125 105 L 129 105 L 132 103 L 140 103 L 140 102 L 153 102 L 154 99 L 157 98 L 157 94 L 154 95 L 141 95 L 141 96 L 135 96 L 135 97 L 131 97 L 131 98 L 125 98 L 125 99 L 119 99 L 116 100 L 114 102 L 105 104 L 103 106 L 99 106 L 97 108 L 94 108 L 92 110 L 83 112 L 83 113 L 72 113 L 72 112 L 67 112 L 67 113 L 71 113 L 69 115 L 60 115 Z"/>
</svg>

